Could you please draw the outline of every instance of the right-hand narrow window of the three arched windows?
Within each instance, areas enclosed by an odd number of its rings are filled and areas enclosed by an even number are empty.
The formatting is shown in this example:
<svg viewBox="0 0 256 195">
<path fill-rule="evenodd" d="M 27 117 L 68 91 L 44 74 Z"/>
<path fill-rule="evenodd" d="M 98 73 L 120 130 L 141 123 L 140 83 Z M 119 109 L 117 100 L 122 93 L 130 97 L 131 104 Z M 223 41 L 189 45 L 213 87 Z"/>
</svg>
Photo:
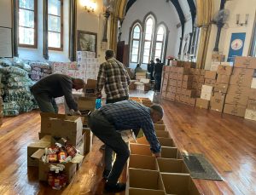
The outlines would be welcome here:
<svg viewBox="0 0 256 195">
<path fill-rule="evenodd" d="M 154 59 L 159 58 L 163 60 L 164 48 L 166 41 L 166 27 L 160 26 L 156 32 L 155 46 L 154 46 Z"/>
</svg>

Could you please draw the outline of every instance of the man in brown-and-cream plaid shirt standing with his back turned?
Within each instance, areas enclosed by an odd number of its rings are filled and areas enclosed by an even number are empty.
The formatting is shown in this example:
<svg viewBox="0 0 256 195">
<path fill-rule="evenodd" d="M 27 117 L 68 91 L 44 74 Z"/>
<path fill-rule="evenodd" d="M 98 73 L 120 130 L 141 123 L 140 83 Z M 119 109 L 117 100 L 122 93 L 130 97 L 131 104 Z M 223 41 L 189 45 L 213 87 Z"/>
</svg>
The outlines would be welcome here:
<svg viewBox="0 0 256 195">
<path fill-rule="evenodd" d="M 97 77 L 97 95 L 102 96 L 102 89 L 104 87 L 107 94 L 106 104 L 114 103 L 120 100 L 129 99 L 129 84 L 131 79 L 126 71 L 125 66 L 114 58 L 113 50 L 105 52 L 106 62 L 102 63 Z M 106 180 L 112 169 L 113 150 L 108 146 L 101 146 L 105 148 L 105 169 L 103 178 Z"/>
</svg>

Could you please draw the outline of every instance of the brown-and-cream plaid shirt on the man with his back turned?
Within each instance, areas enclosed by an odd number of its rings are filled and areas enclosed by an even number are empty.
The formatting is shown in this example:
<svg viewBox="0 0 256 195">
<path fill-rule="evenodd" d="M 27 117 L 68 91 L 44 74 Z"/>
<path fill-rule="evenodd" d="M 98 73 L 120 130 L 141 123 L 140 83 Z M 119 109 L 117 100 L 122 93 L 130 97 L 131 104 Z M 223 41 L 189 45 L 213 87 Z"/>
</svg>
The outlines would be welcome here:
<svg viewBox="0 0 256 195">
<path fill-rule="evenodd" d="M 105 87 L 108 100 L 129 96 L 131 79 L 125 66 L 114 58 L 102 63 L 97 77 L 97 92 Z"/>
</svg>

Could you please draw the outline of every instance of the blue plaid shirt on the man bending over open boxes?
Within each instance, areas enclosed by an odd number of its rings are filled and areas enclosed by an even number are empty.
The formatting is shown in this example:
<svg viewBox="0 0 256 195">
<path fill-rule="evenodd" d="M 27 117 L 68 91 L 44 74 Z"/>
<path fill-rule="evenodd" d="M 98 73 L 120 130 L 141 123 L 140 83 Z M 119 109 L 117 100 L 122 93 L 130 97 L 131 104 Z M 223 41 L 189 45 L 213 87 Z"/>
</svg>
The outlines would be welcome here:
<svg viewBox="0 0 256 195">
<path fill-rule="evenodd" d="M 102 106 L 100 111 L 117 130 L 143 129 L 143 133 L 150 144 L 150 150 L 154 153 L 160 152 L 161 147 L 155 135 L 149 107 L 133 100 L 123 100 Z"/>
</svg>

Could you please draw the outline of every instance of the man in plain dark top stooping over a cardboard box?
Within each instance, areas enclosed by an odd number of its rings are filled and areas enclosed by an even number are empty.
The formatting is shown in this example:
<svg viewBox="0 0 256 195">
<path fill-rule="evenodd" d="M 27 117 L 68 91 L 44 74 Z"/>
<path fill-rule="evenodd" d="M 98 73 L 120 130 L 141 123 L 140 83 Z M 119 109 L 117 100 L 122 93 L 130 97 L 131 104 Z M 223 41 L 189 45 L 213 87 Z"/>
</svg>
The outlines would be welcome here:
<svg viewBox="0 0 256 195">
<path fill-rule="evenodd" d="M 72 89 L 79 90 L 83 89 L 84 86 L 84 80 L 80 78 L 68 77 L 64 74 L 51 74 L 35 83 L 31 91 L 41 112 L 58 113 L 55 98 L 64 95 L 71 113 L 80 115 L 78 105 L 73 100 Z"/>
</svg>

